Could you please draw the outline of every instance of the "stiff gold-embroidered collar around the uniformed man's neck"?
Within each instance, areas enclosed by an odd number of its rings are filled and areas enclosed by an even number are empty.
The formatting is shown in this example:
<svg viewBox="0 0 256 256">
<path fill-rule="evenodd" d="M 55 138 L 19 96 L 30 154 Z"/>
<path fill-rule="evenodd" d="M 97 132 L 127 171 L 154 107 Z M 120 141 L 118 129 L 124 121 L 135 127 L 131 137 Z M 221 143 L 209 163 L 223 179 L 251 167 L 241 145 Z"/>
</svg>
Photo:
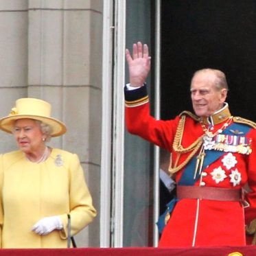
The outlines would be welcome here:
<svg viewBox="0 0 256 256">
<path fill-rule="evenodd" d="M 213 115 L 210 115 L 209 117 L 201 117 L 200 121 L 202 124 L 215 126 L 216 124 L 222 123 L 222 121 L 226 121 L 231 117 L 231 113 L 229 112 L 229 104 L 224 102 L 223 108 L 216 111 Z"/>
</svg>

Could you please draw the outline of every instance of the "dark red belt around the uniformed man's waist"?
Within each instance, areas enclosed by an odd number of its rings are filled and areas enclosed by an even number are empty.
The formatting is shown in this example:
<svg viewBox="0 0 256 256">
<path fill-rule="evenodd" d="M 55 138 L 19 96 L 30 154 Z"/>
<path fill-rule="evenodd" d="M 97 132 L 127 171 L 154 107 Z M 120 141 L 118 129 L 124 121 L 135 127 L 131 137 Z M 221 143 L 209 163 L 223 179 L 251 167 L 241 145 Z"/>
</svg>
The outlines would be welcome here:
<svg viewBox="0 0 256 256">
<path fill-rule="evenodd" d="M 220 187 L 177 186 L 177 198 L 207 199 L 217 201 L 242 201 L 242 189 Z"/>
</svg>

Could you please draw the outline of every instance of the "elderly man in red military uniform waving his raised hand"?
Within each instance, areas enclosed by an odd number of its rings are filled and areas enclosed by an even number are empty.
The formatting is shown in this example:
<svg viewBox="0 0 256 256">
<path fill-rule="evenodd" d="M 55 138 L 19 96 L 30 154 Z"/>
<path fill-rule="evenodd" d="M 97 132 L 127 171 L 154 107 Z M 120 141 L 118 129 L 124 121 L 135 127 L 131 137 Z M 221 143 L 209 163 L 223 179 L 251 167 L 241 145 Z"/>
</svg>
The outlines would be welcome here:
<svg viewBox="0 0 256 256">
<path fill-rule="evenodd" d="M 148 46 L 134 44 L 132 56 L 126 49 L 126 60 L 127 129 L 172 152 L 177 198 L 159 246 L 245 245 L 246 224 L 248 233 L 255 231 L 249 224 L 256 218 L 256 124 L 229 112 L 224 73 L 196 71 L 190 87 L 194 114 L 163 121 L 150 115 Z"/>
</svg>

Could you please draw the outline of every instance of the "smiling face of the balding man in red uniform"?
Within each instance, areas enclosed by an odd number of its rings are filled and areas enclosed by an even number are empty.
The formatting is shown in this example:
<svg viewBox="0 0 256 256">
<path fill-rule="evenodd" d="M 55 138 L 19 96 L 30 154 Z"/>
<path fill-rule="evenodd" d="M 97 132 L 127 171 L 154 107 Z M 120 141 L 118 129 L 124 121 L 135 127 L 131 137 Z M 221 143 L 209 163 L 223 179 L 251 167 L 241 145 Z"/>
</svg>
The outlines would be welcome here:
<svg viewBox="0 0 256 256">
<path fill-rule="evenodd" d="M 222 108 L 226 89 L 215 86 L 216 75 L 212 72 L 197 73 L 191 80 L 191 100 L 198 117 L 209 117 Z"/>
</svg>

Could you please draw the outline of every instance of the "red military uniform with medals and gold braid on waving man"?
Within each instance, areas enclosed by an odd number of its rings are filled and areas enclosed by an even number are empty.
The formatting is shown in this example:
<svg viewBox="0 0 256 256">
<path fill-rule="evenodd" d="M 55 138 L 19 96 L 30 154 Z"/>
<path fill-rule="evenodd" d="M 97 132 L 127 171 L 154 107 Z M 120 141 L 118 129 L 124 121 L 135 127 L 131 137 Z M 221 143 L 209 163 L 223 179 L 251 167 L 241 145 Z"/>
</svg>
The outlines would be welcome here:
<svg viewBox="0 0 256 256">
<path fill-rule="evenodd" d="M 125 89 L 125 97 L 128 131 L 172 152 L 170 172 L 176 173 L 177 189 L 191 189 L 191 198 L 188 193 L 178 198 L 159 246 L 245 245 L 245 224 L 256 218 L 255 124 L 232 117 L 227 104 L 208 119 L 185 112 L 156 120 L 150 116 L 146 86 Z M 250 191 L 242 204 L 231 194 L 244 185 Z M 194 187 L 210 191 L 202 190 L 197 199 Z M 227 199 L 218 189 L 227 191 Z"/>
</svg>

